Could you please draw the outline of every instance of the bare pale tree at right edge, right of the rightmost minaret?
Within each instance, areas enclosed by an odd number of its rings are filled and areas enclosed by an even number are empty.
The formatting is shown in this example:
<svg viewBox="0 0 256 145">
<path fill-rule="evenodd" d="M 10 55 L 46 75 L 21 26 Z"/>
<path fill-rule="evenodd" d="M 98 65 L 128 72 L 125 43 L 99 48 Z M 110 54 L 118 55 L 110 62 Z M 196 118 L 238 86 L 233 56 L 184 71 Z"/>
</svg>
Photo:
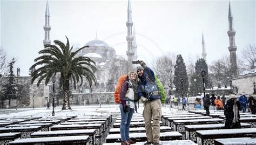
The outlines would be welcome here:
<svg viewBox="0 0 256 145">
<path fill-rule="evenodd" d="M 254 68 L 254 63 L 256 60 L 256 47 L 255 45 L 247 45 L 241 50 L 241 60 L 246 70 L 251 70 Z"/>
</svg>

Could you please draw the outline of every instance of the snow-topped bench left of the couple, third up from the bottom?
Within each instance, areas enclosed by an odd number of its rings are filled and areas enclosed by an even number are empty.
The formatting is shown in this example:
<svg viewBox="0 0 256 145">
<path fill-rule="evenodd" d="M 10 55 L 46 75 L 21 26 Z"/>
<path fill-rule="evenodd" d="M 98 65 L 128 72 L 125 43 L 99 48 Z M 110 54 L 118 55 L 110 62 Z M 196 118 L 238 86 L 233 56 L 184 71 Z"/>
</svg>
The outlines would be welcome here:
<svg viewBox="0 0 256 145">
<path fill-rule="evenodd" d="M 52 126 L 51 130 L 77 130 L 77 129 L 96 129 L 96 137 L 102 136 L 102 124 L 87 124 L 87 125 L 56 125 Z"/>
</svg>

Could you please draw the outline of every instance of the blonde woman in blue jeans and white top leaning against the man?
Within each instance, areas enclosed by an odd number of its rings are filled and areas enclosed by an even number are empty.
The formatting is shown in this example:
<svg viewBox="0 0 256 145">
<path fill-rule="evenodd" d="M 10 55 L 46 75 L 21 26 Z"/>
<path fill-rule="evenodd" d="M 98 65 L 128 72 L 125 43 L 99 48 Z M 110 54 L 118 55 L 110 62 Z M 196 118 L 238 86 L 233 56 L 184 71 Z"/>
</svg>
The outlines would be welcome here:
<svg viewBox="0 0 256 145">
<path fill-rule="evenodd" d="M 127 79 L 121 88 L 120 94 L 120 112 L 121 112 L 121 124 L 120 134 L 122 145 L 133 144 L 136 141 L 132 141 L 129 137 L 130 122 L 134 111 L 134 98 L 137 97 L 138 78 L 135 72 L 129 72 Z"/>
</svg>

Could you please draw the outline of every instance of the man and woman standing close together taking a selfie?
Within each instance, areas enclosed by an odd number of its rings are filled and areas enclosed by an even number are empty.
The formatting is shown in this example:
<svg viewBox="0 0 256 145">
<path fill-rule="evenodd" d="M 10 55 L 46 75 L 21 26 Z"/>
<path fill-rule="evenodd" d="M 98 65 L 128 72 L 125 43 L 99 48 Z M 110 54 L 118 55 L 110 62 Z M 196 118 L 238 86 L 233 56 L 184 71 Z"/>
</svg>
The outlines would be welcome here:
<svg viewBox="0 0 256 145">
<path fill-rule="evenodd" d="M 129 137 L 130 122 L 134 111 L 134 98 L 141 99 L 144 103 L 143 118 L 145 120 L 147 136 L 147 142 L 145 144 L 159 144 L 159 121 L 161 117 L 160 94 L 154 72 L 143 61 L 140 61 L 140 65 L 137 67 L 138 77 L 135 72 L 129 72 L 121 88 L 120 134 L 122 145 L 136 143 L 136 141 L 131 140 Z M 152 119 L 153 123 L 151 125 Z"/>
</svg>

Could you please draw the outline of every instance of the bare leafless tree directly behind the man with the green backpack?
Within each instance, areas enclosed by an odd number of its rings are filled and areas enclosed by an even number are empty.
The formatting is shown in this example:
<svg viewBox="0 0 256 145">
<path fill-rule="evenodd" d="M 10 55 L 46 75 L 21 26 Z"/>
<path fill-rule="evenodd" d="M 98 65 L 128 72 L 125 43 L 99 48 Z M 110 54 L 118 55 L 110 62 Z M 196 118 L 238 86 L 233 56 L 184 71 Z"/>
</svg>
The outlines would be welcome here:
<svg viewBox="0 0 256 145">
<path fill-rule="evenodd" d="M 163 86 L 165 83 L 171 83 L 174 77 L 174 66 L 176 64 L 176 54 L 167 53 L 157 58 L 153 62 L 153 69 Z"/>
</svg>

